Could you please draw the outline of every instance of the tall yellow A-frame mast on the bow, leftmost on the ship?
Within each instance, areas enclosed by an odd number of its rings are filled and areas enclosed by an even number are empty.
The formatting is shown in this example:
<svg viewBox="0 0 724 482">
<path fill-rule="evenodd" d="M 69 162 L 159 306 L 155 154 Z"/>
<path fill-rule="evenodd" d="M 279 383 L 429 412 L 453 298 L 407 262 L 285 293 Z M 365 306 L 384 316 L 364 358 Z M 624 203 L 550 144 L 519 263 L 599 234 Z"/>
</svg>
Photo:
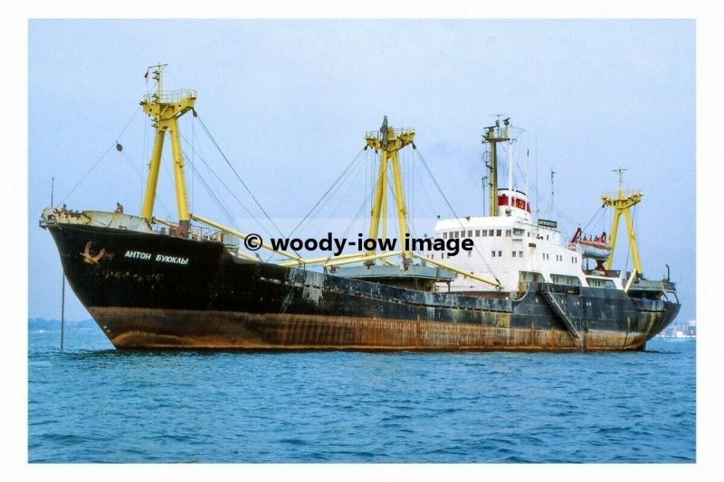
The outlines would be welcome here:
<svg viewBox="0 0 724 482">
<path fill-rule="evenodd" d="M 171 137 L 171 154 L 174 159 L 174 180 L 176 184 L 176 209 L 178 222 L 188 228 L 191 217 L 188 213 L 188 196 L 186 195 L 186 176 L 184 175 L 184 156 L 181 152 L 181 140 L 178 131 L 178 118 L 194 109 L 196 100 L 195 90 L 163 90 L 163 70 L 165 63 L 148 68 L 156 80 L 156 93 L 144 96 L 141 100 L 143 111 L 153 119 L 156 128 L 151 159 L 148 163 L 148 184 L 141 208 L 141 217 L 151 220 L 153 206 L 156 202 L 156 188 L 158 184 L 158 171 L 161 165 L 164 139 L 168 132 Z"/>
</svg>

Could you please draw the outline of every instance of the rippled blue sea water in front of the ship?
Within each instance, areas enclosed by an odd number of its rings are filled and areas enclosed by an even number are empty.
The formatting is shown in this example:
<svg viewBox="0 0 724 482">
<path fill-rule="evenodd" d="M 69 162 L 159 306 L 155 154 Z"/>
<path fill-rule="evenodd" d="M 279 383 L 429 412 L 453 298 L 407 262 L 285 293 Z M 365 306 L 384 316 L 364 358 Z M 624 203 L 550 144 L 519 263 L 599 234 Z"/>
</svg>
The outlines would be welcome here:
<svg viewBox="0 0 724 482">
<path fill-rule="evenodd" d="M 693 340 L 622 354 L 119 352 L 31 330 L 30 462 L 694 462 Z"/>
</svg>

